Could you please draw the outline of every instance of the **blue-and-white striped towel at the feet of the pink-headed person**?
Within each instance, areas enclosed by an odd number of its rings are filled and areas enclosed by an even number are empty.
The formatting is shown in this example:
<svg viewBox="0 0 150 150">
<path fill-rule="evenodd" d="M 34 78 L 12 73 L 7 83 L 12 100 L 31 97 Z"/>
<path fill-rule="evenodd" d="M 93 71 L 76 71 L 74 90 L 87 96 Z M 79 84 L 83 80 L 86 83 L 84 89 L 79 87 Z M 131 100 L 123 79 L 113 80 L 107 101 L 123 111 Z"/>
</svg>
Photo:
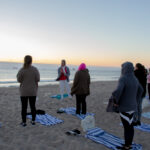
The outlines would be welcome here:
<svg viewBox="0 0 150 150">
<path fill-rule="evenodd" d="M 66 114 L 77 116 L 79 119 L 83 120 L 86 116 L 94 116 L 93 113 L 86 113 L 84 114 L 76 114 L 76 108 L 68 107 L 68 108 L 60 108 L 59 110 L 64 111 Z"/>
</svg>

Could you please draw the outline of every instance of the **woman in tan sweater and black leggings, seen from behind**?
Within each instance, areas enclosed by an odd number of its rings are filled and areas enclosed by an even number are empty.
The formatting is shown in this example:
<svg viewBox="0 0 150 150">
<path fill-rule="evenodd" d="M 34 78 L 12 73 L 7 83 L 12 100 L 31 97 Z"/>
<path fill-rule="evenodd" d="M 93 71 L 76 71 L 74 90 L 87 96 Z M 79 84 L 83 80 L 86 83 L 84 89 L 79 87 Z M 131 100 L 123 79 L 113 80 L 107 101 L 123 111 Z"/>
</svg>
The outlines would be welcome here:
<svg viewBox="0 0 150 150">
<path fill-rule="evenodd" d="M 36 118 L 36 96 L 38 90 L 38 82 L 40 81 L 40 74 L 36 67 L 32 66 L 32 57 L 27 55 L 24 58 L 24 65 L 17 74 L 17 80 L 20 83 L 20 96 L 22 104 L 22 126 L 26 126 L 26 115 L 28 100 L 30 103 L 32 121 L 31 124 L 35 125 Z"/>
</svg>

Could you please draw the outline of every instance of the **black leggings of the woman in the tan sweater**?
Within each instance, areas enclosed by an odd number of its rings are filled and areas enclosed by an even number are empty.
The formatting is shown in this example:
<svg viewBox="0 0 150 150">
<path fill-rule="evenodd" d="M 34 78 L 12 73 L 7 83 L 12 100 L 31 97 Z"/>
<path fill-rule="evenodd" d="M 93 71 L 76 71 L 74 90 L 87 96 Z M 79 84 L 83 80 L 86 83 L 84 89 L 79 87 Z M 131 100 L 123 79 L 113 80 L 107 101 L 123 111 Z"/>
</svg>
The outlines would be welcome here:
<svg viewBox="0 0 150 150">
<path fill-rule="evenodd" d="M 36 117 L 36 108 L 35 108 L 36 96 L 21 96 L 21 104 L 22 104 L 21 116 L 22 121 L 24 123 L 26 122 L 28 100 L 31 108 L 32 121 L 35 121 Z"/>
</svg>

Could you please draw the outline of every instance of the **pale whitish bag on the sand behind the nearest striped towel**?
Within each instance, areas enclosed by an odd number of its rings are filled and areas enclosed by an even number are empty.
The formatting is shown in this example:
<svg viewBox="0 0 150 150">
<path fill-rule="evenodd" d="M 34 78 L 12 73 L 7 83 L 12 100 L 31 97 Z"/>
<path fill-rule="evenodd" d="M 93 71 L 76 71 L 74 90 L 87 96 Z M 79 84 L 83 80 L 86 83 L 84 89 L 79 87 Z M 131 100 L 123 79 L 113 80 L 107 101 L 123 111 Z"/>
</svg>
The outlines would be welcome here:
<svg viewBox="0 0 150 150">
<path fill-rule="evenodd" d="M 87 116 L 83 120 L 81 120 L 81 127 L 84 132 L 86 132 L 89 129 L 92 129 L 95 127 L 95 118 L 94 116 Z"/>
</svg>

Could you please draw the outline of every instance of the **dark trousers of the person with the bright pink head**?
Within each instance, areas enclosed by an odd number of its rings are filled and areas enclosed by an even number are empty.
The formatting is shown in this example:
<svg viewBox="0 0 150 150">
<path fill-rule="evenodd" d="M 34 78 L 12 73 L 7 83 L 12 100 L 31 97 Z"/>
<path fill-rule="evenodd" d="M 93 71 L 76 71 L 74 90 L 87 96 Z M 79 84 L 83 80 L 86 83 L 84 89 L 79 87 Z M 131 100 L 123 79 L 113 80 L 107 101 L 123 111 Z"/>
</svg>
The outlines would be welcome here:
<svg viewBox="0 0 150 150">
<path fill-rule="evenodd" d="M 76 95 L 76 114 L 86 114 L 86 95 Z M 81 112 L 82 107 L 82 112 Z"/>
</svg>

